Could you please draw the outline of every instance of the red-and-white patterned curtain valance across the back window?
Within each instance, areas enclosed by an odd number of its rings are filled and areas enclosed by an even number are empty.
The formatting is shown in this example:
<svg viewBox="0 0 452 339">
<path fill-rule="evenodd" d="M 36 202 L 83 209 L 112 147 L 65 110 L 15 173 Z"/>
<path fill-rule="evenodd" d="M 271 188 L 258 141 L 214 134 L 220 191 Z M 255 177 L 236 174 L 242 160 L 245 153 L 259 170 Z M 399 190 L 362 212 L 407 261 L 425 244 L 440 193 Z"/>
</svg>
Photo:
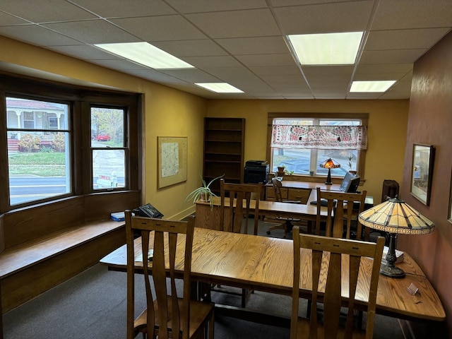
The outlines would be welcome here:
<svg viewBox="0 0 452 339">
<path fill-rule="evenodd" d="M 271 147 L 366 150 L 366 126 L 273 125 Z"/>
</svg>

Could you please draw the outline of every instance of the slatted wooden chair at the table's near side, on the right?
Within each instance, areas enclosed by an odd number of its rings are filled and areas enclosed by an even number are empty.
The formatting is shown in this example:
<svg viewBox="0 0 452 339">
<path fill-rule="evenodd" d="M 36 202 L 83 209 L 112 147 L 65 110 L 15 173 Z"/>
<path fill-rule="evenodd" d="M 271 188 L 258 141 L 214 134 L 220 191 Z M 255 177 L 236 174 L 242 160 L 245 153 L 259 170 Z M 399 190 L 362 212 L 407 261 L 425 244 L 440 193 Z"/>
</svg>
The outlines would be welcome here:
<svg viewBox="0 0 452 339">
<path fill-rule="evenodd" d="M 293 234 L 294 285 L 290 339 L 371 339 L 374 334 L 376 291 L 384 246 L 383 237 L 379 237 L 375 244 L 300 234 L 298 227 L 294 227 Z M 307 267 L 311 268 L 311 276 L 304 278 L 309 278 L 308 285 L 312 287 L 313 304 L 309 319 L 298 316 L 300 272 L 306 274 Z M 358 281 L 359 270 L 369 269 L 369 267 L 371 268 L 370 281 Z M 348 287 L 348 291 L 342 291 L 343 287 Z M 357 295 L 362 297 L 361 294 L 364 294 L 365 301 L 367 297 L 365 332 L 353 326 L 355 298 Z M 323 303 L 323 323 L 320 323 L 317 318 L 317 302 Z M 345 327 L 340 326 L 341 307 L 348 308 Z"/>
</svg>

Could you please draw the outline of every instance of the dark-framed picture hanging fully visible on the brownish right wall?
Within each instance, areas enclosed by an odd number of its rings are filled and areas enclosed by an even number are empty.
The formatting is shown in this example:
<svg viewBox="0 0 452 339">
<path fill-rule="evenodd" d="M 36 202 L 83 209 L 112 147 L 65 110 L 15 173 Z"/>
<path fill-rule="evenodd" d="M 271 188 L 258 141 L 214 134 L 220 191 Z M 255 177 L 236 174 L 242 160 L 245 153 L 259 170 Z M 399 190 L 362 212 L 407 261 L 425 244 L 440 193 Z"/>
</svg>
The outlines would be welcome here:
<svg viewBox="0 0 452 339">
<path fill-rule="evenodd" d="M 417 200 L 429 206 L 432 189 L 434 147 L 432 145 L 413 144 L 411 194 Z"/>
</svg>

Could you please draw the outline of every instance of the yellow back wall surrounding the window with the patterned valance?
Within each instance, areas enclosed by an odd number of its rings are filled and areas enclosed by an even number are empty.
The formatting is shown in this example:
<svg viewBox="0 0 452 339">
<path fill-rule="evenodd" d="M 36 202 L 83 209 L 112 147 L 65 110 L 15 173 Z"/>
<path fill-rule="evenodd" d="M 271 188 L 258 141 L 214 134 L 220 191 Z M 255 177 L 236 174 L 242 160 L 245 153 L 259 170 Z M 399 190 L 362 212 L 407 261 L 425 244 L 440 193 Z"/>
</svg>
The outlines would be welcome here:
<svg viewBox="0 0 452 339">
<path fill-rule="evenodd" d="M 245 161 L 265 160 L 268 112 L 369 113 L 366 180 L 361 190 L 381 201 L 384 179 L 402 183 L 408 100 L 210 100 L 208 117 L 244 117 Z"/>
</svg>

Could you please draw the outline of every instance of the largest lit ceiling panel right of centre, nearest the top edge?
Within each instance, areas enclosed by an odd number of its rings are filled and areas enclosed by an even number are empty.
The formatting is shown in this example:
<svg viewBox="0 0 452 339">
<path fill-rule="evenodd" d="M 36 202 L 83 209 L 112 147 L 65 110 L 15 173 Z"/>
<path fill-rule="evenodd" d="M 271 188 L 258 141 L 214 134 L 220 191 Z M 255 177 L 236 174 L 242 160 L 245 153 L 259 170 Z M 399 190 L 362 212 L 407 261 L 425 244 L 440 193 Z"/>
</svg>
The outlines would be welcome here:
<svg viewBox="0 0 452 339">
<path fill-rule="evenodd" d="M 355 64 L 363 32 L 287 35 L 302 65 Z"/>
</svg>

